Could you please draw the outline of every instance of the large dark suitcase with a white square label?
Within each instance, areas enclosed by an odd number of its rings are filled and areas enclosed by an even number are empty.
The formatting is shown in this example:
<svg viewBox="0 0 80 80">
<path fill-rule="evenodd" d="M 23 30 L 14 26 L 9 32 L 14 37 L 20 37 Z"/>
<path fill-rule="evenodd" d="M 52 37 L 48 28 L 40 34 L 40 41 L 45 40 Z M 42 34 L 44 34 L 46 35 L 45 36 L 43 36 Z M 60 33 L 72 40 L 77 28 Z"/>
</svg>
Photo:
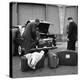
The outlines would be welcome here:
<svg viewBox="0 0 80 80">
<path fill-rule="evenodd" d="M 77 66 L 78 54 L 75 51 L 67 50 L 56 53 L 59 57 L 59 65 Z"/>
</svg>

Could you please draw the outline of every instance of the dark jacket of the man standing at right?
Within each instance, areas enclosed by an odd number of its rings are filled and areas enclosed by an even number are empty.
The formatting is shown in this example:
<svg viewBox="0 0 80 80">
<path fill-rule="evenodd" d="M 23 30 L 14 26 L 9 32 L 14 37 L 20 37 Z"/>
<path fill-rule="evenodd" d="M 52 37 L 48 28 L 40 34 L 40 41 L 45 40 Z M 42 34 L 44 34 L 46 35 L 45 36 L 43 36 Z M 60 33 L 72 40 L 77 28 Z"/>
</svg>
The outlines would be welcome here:
<svg viewBox="0 0 80 80">
<path fill-rule="evenodd" d="M 68 39 L 76 41 L 77 40 L 77 24 L 71 22 L 68 27 Z"/>
</svg>

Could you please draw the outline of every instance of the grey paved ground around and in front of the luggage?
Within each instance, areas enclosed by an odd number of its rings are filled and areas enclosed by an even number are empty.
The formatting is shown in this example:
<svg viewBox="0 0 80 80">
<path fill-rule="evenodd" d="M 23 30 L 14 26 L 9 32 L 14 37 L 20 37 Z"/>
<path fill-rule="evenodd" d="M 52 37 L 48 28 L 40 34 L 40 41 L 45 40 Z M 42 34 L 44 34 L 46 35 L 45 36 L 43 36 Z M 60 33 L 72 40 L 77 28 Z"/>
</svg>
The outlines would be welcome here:
<svg viewBox="0 0 80 80">
<path fill-rule="evenodd" d="M 58 42 L 57 49 L 53 52 L 66 50 L 67 43 Z M 76 48 L 77 50 L 77 48 Z M 14 78 L 23 78 L 23 77 L 39 77 L 39 76 L 55 76 L 55 75 L 69 75 L 77 74 L 77 66 L 59 66 L 56 69 L 50 69 L 47 66 L 47 58 L 45 59 L 45 67 L 38 69 L 36 71 L 21 72 L 20 67 L 20 57 L 13 57 L 13 77 Z"/>
</svg>

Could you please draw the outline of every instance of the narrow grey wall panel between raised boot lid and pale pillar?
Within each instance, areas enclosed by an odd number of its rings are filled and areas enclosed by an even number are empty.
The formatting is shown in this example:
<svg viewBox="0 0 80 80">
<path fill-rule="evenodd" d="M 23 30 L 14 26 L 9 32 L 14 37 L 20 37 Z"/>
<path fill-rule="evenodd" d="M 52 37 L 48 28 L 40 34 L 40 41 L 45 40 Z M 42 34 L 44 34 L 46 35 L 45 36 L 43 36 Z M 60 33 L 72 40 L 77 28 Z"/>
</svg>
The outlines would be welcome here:
<svg viewBox="0 0 80 80">
<path fill-rule="evenodd" d="M 51 22 L 49 32 L 51 34 L 60 33 L 59 8 L 58 6 L 48 5 L 46 20 Z"/>
</svg>

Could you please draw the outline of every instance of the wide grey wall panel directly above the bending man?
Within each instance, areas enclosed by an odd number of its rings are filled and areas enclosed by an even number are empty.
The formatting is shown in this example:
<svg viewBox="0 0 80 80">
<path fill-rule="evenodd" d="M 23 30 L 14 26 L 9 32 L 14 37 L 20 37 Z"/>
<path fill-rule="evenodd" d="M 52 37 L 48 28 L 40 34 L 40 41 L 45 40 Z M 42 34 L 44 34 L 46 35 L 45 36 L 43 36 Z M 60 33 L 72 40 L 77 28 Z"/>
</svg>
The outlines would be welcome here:
<svg viewBox="0 0 80 80">
<path fill-rule="evenodd" d="M 34 4 L 18 4 L 19 23 L 24 24 L 27 20 L 45 20 L 45 6 Z"/>
</svg>

